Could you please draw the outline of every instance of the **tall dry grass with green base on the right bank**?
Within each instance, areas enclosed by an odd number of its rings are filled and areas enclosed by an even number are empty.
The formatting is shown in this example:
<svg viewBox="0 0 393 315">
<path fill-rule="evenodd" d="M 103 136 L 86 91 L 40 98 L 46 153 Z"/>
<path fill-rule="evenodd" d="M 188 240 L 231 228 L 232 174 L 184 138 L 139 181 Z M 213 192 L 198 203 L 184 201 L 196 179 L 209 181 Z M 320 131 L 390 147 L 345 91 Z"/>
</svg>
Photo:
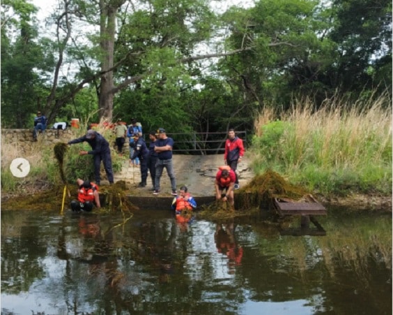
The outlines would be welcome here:
<svg viewBox="0 0 393 315">
<path fill-rule="evenodd" d="M 323 193 L 391 193 L 392 110 L 386 104 L 382 95 L 356 104 L 332 98 L 318 110 L 309 100 L 295 101 L 286 112 L 266 108 L 256 119 L 254 166 Z"/>
</svg>

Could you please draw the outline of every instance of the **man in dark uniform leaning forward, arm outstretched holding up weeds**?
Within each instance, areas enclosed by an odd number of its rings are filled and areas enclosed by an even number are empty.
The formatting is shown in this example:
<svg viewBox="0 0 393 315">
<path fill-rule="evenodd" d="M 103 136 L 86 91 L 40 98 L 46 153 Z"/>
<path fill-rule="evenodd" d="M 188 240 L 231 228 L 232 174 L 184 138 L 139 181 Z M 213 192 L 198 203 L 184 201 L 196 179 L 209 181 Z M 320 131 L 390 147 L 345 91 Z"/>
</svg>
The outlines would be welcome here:
<svg viewBox="0 0 393 315">
<path fill-rule="evenodd" d="M 79 151 L 79 155 L 93 155 L 95 184 L 100 185 L 101 182 L 101 161 L 104 163 L 104 168 L 105 172 L 107 173 L 109 184 L 113 184 L 114 173 L 112 170 L 112 159 L 111 150 L 109 149 L 109 142 L 107 142 L 107 140 L 105 140 L 105 138 L 100 135 L 100 133 L 90 129 L 87 131 L 86 135 L 82 135 L 80 138 L 68 141 L 68 145 L 74 145 L 75 143 L 84 141 L 88 142 L 88 144 L 91 146 L 91 151 Z"/>
</svg>

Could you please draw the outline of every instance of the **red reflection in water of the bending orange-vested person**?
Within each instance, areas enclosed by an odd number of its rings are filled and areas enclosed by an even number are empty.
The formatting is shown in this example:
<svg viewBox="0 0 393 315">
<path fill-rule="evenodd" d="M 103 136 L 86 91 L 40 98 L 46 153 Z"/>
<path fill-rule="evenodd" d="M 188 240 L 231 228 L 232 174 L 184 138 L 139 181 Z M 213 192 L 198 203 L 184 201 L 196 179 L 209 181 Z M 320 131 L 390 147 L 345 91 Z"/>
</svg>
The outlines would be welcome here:
<svg viewBox="0 0 393 315">
<path fill-rule="evenodd" d="M 230 269 L 241 265 L 243 249 L 236 244 L 233 222 L 229 224 L 217 224 L 214 239 L 217 251 L 229 258 Z"/>
</svg>

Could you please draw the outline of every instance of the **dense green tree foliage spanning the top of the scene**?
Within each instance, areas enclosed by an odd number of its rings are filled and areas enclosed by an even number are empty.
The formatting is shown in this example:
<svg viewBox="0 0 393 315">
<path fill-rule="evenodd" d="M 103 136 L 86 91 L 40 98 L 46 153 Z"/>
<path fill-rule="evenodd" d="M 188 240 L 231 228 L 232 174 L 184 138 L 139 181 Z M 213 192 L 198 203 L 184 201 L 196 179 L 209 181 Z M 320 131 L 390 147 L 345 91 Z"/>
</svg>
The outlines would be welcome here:
<svg viewBox="0 0 393 315">
<path fill-rule="evenodd" d="M 337 92 L 350 101 L 392 87 L 387 0 L 265 0 L 224 13 L 205 0 L 101 3 L 59 3 L 45 34 L 31 3 L 2 1 L 3 127 L 31 128 L 42 110 L 49 124 L 113 114 L 145 131 L 252 133 L 262 108 L 289 108 L 293 96 L 318 108 Z"/>
</svg>

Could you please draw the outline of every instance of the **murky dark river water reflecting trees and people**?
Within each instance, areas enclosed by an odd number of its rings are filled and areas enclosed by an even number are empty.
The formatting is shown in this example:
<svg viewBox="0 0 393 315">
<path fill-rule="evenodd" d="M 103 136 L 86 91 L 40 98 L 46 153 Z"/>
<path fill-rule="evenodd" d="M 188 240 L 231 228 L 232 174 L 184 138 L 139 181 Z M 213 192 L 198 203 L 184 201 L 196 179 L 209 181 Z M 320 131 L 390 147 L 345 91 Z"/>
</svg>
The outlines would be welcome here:
<svg viewBox="0 0 393 315">
<path fill-rule="evenodd" d="M 328 210 L 297 237 L 129 217 L 2 210 L 1 314 L 392 314 L 391 214 Z"/>
</svg>

